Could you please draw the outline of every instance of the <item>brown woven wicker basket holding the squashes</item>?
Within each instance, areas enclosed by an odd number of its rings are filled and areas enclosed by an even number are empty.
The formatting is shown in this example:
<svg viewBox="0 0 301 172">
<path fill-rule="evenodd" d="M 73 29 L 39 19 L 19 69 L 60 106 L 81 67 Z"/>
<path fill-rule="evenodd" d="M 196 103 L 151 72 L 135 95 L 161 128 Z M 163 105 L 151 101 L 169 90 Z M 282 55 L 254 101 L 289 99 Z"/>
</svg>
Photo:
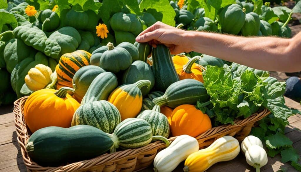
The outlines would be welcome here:
<svg viewBox="0 0 301 172">
<path fill-rule="evenodd" d="M 42 167 L 33 162 L 28 156 L 25 145 L 29 139 L 28 129 L 24 121 L 24 104 L 27 97 L 23 97 L 14 102 L 15 125 L 17 127 L 17 140 L 21 147 L 24 164 L 28 171 L 47 171 L 47 172 L 132 172 L 142 170 L 152 164 L 156 154 L 165 148 L 165 143 L 157 141 L 150 143 L 138 149 L 128 149 L 125 151 L 115 152 L 113 154 L 104 154 L 93 159 L 75 162 L 60 167 Z M 214 127 L 205 133 L 196 137 L 200 149 L 212 144 L 216 139 L 230 135 L 239 140 L 243 140 L 249 135 L 254 123 L 270 112 L 265 109 L 260 113 L 255 113 L 244 120 L 235 120 L 235 125 L 223 125 Z M 169 138 L 173 141 L 175 137 Z"/>
</svg>

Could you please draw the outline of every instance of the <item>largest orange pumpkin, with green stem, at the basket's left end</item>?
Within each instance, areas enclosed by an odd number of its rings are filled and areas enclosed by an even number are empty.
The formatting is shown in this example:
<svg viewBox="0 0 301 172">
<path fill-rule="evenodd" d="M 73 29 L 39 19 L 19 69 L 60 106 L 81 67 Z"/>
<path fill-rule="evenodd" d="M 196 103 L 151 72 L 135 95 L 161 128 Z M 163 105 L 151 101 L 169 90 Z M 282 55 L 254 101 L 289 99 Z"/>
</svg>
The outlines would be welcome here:
<svg viewBox="0 0 301 172">
<path fill-rule="evenodd" d="M 44 127 L 71 127 L 74 112 L 79 102 L 67 94 L 74 91 L 68 87 L 40 89 L 33 92 L 25 102 L 24 117 L 29 130 L 34 133 Z"/>
</svg>

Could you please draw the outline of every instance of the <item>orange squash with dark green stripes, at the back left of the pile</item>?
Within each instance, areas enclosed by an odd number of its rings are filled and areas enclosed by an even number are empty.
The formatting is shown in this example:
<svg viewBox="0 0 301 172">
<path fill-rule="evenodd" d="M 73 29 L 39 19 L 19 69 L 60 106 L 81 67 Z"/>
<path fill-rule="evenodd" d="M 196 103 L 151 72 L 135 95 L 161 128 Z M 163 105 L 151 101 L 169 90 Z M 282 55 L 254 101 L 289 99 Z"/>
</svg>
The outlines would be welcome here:
<svg viewBox="0 0 301 172">
<path fill-rule="evenodd" d="M 84 50 L 77 50 L 62 55 L 59 64 L 55 67 L 58 84 L 72 88 L 74 74 L 81 67 L 90 65 L 90 57 L 91 54 Z"/>
</svg>

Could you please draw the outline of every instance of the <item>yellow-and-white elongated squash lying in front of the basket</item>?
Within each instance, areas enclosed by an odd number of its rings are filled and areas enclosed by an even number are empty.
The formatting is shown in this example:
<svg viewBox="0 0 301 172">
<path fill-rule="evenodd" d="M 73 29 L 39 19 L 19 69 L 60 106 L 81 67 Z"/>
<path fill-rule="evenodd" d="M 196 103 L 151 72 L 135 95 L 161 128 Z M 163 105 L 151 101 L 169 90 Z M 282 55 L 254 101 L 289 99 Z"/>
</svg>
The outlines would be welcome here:
<svg viewBox="0 0 301 172">
<path fill-rule="evenodd" d="M 239 142 L 232 136 L 224 136 L 214 141 L 208 148 L 188 156 L 184 172 L 203 172 L 213 164 L 230 161 L 240 152 Z"/>
</svg>

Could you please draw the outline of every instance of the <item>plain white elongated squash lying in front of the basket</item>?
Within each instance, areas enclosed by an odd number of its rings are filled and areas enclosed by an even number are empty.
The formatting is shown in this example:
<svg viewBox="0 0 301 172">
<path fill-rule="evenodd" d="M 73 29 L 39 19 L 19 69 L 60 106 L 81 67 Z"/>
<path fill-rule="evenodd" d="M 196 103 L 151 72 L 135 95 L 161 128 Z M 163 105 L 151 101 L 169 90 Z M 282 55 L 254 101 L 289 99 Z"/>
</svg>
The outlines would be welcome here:
<svg viewBox="0 0 301 172">
<path fill-rule="evenodd" d="M 160 151 L 154 159 L 155 172 L 172 172 L 180 162 L 199 150 L 197 139 L 188 135 L 178 136 L 166 149 Z"/>
</svg>

